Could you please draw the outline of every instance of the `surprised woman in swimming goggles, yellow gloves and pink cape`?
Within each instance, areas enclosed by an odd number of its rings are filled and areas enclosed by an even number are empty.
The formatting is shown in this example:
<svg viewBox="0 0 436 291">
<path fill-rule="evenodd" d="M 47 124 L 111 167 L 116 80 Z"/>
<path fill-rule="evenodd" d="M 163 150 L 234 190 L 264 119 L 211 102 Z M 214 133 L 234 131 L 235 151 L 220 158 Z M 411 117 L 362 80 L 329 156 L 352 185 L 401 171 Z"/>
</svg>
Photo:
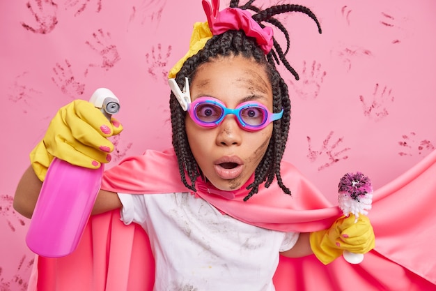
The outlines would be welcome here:
<svg viewBox="0 0 436 291">
<path fill-rule="evenodd" d="M 238 1 L 231 1 L 230 8 L 219 11 L 218 0 L 212 0 L 212 6 L 203 0 L 208 22 L 194 25 L 189 52 L 169 72 L 173 149 L 146 151 L 104 174 L 94 214 L 111 214 L 110 223 L 100 228 L 107 216 L 91 218 L 93 234 L 87 232 L 82 241 L 94 244 L 88 253 L 93 267 L 87 268 L 86 276 L 70 274 L 88 281 L 69 279 L 59 266 L 74 260 L 59 258 L 53 274 L 40 271 L 39 290 L 57 290 L 56 284 L 62 285 L 61 290 L 146 290 L 141 278 L 143 257 L 120 263 L 122 259 L 114 255 L 132 236 L 138 241 L 140 235 L 137 229 L 119 234 L 123 232 L 116 224 L 120 214 L 123 223 L 141 225 L 148 234 L 155 259 L 154 290 L 274 290 L 279 254 L 299 258 L 314 253 L 328 264 L 344 250 L 367 253 L 374 247 L 373 229 L 365 216 L 355 222 L 354 216 L 339 217 L 333 209 L 314 211 L 303 219 L 299 214 L 328 204 L 292 165 L 281 161 L 290 100 L 275 62 L 281 61 L 298 77 L 285 58 L 288 33 L 273 16 L 297 11 L 315 20 L 319 31 L 320 24 L 302 6 L 260 10 L 253 2 L 238 7 Z M 285 34 L 285 52 L 263 22 Z M 71 143 L 74 153 L 63 154 L 70 163 L 83 161 L 79 165 L 96 167 L 109 161 L 105 149 L 114 146 L 104 138 L 108 134 L 102 128 L 109 128 L 109 135 L 122 128 L 96 111 L 83 100 L 59 110 L 44 140 L 32 151 L 32 167 L 17 187 L 14 204 L 20 213 L 31 217 L 31 201 L 38 197 L 48 163 L 59 155 L 57 140 Z M 95 128 L 86 130 L 90 135 L 86 144 L 75 136 L 84 131 L 75 128 L 83 121 Z M 84 148 L 91 149 L 77 153 Z M 79 159 L 72 158 L 78 155 Z M 102 250 L 95 247 L 101 239 L 98 232 L 107 238 Z M 146 240 L 141 244 L 146 245 Z M 130 247 L 133 254 L 138 245 Z M 86 253 L 84 246 L 78 252 Z M 95 267 L 98 257 L 105 263 Z M 52 264 L 39 260 L 40 269 Z M 118 260 L 116 274 L 111 274 L 111 260 Z M 50 276 L 56 276 L 56 284 L 41 282 L 41 277 L 49 281 Z M 126 283 L 132 280 L 134 284 Z"/>
</svg>

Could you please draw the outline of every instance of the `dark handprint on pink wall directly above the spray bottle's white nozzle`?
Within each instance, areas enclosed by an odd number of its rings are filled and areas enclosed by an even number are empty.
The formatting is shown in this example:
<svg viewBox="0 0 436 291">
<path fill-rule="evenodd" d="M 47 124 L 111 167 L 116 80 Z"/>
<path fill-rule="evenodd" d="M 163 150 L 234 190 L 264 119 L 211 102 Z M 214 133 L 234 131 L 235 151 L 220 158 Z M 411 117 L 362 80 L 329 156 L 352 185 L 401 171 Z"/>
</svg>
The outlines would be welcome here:
<svg viewBox="0 0 436 291">
<path fill-rule="evenodd" d="M 86 40 L 86 45 L 91 47 L 91 49 L 97 52 L 102 58 L 101 64 L 90 64 L 89 66 L 91 67 L 109 70 L 121 59 L 116 45 L 112 43 L 111 33 L 105 33 L 103 29 L 98 29 L 97 32 L 94 32 L 92 43 L 91 41 Z"/>
</svg>

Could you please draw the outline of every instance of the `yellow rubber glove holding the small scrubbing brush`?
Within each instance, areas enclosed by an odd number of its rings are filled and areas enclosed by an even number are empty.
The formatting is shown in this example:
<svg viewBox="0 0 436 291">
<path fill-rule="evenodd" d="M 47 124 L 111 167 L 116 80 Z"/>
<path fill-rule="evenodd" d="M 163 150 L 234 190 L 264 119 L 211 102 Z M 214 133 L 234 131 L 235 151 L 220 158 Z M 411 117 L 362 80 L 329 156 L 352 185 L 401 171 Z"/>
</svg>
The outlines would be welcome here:
<svg viewBox="0 0 436 291">
<path fill-rule="evenodd" d="M 375 246 L 373 226 L 369 218 L 360 215 L 342 216 L 327 230 L 311 232 L 311 248 L 316 258 L 329 264 L 347 250 L 352 253 L 368 253 Z"/>
</svg>

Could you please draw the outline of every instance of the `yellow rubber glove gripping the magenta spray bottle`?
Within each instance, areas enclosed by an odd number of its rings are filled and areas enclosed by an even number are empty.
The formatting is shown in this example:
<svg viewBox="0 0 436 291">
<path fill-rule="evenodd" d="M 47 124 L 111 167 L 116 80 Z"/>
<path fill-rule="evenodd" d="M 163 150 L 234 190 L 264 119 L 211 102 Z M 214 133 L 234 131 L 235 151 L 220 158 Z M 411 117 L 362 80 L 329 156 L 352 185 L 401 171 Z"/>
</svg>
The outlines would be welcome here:
<svg viewBox="0 0 436 291">
<path fill-rule="evenodd" d="M 92 103 L 74 100 L 62 107 L 50 121 L 44 138 L 31 151 L 31 165 L 36 175 L 44 181 L 53 158 L 60 158 L 72 165 L 98 169 L 110 161 L 114 144 L 107 137 L 118 135 L 123 126 L 111 121 Z"/>
</svg>

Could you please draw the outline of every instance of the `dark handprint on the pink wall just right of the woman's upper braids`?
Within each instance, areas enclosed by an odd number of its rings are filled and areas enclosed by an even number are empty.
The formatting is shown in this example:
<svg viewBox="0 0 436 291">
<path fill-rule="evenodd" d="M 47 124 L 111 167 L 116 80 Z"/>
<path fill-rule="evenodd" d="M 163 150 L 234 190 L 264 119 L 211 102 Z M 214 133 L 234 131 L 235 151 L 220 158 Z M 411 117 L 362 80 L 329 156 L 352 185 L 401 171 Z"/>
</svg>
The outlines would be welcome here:
<svg viewBox="0 0 436 291">
<path fill-rule="evenodd" d="M 322 70 L 321 64 L 313 61 L 312 64 L 303 62 L 302 73 L 299 73 L 299 81 L 293 82 L 289 80 L 290 84 L 295 89 L 295 94 L 304 100 L 316 99 L 320 93 L 321 84 L 324 82 L 324 77 L 327 75 L 325 70 Z"/>
</svg>

